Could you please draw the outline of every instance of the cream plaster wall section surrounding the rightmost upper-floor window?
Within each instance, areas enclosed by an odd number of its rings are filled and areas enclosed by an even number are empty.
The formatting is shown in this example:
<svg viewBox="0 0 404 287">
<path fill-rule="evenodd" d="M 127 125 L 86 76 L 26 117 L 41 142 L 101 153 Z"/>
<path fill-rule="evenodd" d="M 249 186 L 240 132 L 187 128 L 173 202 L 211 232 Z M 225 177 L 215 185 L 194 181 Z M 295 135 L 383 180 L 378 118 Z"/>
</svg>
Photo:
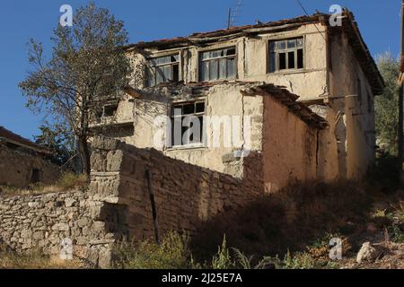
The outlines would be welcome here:
<svg viewBox="0 0 404 287">
<path fill-rule="evenodd" d="M 297 37 L 303 37 L 304 68 L 268 73 L 268 41 Z M 285 86 L 299 95 L 299 100 L 318 99 L 326 93 L 328 84 L 327 45 L 324 37 L 324 26 L 309 24 L 245 39 L 245 45 L 239 46 L 239 61 L 242 60 L 242 55 L 245 61 L 244 65 L 239 65 L 239 79 Z"/>
</svg>

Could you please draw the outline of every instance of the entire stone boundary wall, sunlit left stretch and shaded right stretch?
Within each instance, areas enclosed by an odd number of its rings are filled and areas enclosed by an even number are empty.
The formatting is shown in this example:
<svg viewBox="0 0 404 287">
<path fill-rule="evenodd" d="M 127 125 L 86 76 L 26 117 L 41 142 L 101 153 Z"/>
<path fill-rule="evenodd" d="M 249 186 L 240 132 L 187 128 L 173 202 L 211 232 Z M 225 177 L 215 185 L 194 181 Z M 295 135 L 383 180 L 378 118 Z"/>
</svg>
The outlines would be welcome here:
<svg viewBox="0 0 404 287">
<path fill-rule="evenodd" d="M 200 222 L 263 192 L 259 153 L 224 157 L 229 169 L 244 166 L 241 179 L 117 140 L 95 138 L 92 149 L 88 190 L 0 196 L 0 243 L 18 252 L 40 249 L 58 256 L 62 240 L 71 239 L 76 257 L 109 267 L 114 242 L 154 237 L 146 170 L 162 236 L 169 230 L 192 233 Z"/>
</svg>

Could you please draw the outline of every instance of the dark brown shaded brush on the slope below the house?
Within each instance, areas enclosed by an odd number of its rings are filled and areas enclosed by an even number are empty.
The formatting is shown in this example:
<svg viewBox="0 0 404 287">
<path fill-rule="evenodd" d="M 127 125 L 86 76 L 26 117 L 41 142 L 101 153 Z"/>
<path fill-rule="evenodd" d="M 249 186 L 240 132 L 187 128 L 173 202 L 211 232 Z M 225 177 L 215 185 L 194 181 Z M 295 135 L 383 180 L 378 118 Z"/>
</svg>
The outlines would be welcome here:
<svg viewBox="0 0 404 287">
<path fill-rule="evenodd" d="M 208 260 L 224 239 L 247 255 L 282 255 L 305 249 L 327 232 L 349 232 L 361 222 L 371 200 L 353 182 L 295 182 L 239 209 L 201 222 L 192 239 L 197 259 Z"/>
</svg>

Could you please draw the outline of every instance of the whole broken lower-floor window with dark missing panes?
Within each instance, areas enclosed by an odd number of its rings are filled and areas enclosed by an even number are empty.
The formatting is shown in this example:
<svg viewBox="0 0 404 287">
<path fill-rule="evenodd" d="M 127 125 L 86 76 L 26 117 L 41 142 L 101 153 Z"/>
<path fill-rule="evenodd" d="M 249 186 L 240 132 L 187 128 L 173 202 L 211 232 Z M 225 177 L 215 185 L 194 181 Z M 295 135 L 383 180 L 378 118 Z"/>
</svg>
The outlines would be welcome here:
<svg viewBox="0 0 404 287">
<path fill-rule="evenodd" d="M 171 108 L 171 146 L 203 143 L 205 101 L 178 103 Z"/>
</svg>

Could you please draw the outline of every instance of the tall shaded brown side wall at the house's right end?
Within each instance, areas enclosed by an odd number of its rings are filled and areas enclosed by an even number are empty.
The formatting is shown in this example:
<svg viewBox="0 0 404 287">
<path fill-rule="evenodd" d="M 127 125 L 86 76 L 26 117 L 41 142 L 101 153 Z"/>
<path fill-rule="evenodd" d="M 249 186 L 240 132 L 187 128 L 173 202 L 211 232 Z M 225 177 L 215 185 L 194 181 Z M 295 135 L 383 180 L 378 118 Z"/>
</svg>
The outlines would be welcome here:
<svg viewBox="0 0 404 287">
<path fill-rule="evenodd" d="M 338 138 L 339 174 L 361 178 L 375 156 L 373 92 L 347 35 L 330 35 L 329 45 L 329 105 L 339 114 L 330 124 Z"/>
</svg>

